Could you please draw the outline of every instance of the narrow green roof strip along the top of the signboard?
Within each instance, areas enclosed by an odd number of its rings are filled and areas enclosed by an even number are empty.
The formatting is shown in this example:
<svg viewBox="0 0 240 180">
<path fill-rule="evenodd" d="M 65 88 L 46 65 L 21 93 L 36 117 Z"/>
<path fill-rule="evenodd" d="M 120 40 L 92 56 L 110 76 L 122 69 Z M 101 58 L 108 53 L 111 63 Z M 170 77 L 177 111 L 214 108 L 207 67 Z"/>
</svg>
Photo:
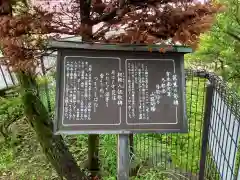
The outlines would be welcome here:
<svg viewBox="0 0 240 180">
<path fill-rule="evenodd" d="M 49 49 L 92 49 L 92 50 L 115 50 L 115 51 L 151 51 L 151 52 L 179 52 L 191 53 L 192 48 L 178 45 L 134 45 L 134 44 L 102 44 L 89 42 L 56 41 L 48 42 Z"/>
</svg>

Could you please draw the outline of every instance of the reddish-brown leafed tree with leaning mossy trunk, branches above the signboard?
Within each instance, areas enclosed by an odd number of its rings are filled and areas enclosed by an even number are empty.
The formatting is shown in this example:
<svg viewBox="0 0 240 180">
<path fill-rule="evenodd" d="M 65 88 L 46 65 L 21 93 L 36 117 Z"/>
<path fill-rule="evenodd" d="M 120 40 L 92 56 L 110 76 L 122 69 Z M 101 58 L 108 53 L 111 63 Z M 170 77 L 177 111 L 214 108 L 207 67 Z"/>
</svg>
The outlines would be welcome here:
<svg viewBox="0 0 240 180">
<path fill-rule="evenodd" d="M 5 57 L 2 63 L 22 74 L 20 83 L 27 120 L 58 174 L 64 176 L 69 166 L 74 165 L 71 173 L 67 173 L 68 178 L 78 174 L 74 174 L 75 162 L 62 138 L 53 135 L 42 99 L 33 93 L 37 90 L 36 68 L 47 40 L 56 34 L 71 34 L 93 42 L 152 44 L 170 40 L 195 47 L 199 35 L 211 27 L 215 14 L 223 10 L 215 2 L 195 0 L 72 0 L 53 11 L 30 6 L 24 0 L 19 2 L 2 0 L 0 4 L 0 46 Z M 64 21 L 65 15 L 70 17 L 69 21 Z M 93 32 L 93 26 L 99 23 L 103 26 Z M 118 28 L 123 28 L 124 33 L 105 38 L 107 32 Z M 26 92 L 29 88 L 32 89 Z"/>
</svg>

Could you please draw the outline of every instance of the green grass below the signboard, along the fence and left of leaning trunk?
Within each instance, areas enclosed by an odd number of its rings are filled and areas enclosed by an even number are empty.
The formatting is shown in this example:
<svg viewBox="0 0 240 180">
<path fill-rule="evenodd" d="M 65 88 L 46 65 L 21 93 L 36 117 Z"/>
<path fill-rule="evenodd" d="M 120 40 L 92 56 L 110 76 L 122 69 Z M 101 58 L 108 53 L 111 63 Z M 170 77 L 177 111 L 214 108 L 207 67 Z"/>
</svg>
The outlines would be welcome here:
<svg viewBox="0 0 240 180">
<path fill-rule="evenodd" d="M 188 179 L 199 170 L 201 129 L 204 107 L 205 81 L 194 78 L 187 82 L 187 134 L 137 134 L 134 135 L 132 165 L 139 165 L 132 180 Z M 55 92 L 49 91 L 51 107 Z M 45 93 L 41 96 L 47 106 Z M 20 103 L 19 101 L 16 102 Z M 0 105 L 0 107 L 2 104 Z M 21 106 L 11 103 L 9 108 L 22 112 Z M 16 108 L 17 107 L 17 108 Z M 2 113 L 3 115 L 4 113 Z M 0 121 L 1 122 L 1 121 Z M 11 125 L 17 140 L 0 141 L 0 180 L 50 180 L 58 179 L 56 172 L 46 161 L 35 134 L 22 118 Z M 104 180 L 116 179 L 116 135 L 100 135 L 101 172 Z M 87 135 L 64 136 L 78 164 L 83 167 L 87 158 Z M 141 163 L 142 162 L 142 163 Z M 187 175 L 188 174 L 188 175 Z"/>
</svg>

